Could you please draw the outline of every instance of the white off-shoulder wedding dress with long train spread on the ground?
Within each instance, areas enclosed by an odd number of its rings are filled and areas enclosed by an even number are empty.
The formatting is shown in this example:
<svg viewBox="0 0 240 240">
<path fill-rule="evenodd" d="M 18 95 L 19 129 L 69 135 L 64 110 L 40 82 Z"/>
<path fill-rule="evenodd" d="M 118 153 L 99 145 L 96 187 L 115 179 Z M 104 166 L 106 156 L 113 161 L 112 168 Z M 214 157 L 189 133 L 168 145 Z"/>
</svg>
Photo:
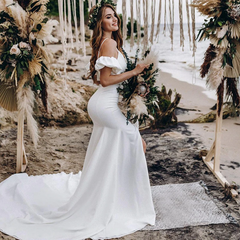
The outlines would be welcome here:
<svg viewBox="0 0 240 240">
<path fill-rule="evenodd" d="M 105 66 L 119 74 L 125 58 L 98 58 L 98 78 Z M 0 183 L 0 231 L 22 240 L 110 239 L 155 224 L 141 136 L 118 108 L 117 87 L 100 86 L 88 103 L 93 132 L 82 171 Z"/>
</svg>

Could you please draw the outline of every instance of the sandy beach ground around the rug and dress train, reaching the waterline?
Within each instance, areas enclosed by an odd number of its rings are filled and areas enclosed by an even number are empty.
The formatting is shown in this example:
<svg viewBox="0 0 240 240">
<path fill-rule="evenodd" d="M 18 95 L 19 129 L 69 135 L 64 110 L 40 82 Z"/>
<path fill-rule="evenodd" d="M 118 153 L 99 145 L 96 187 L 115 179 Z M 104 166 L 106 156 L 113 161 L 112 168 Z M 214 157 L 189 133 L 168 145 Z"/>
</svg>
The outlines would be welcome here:
<svg viewBox="0 0 240 240">
<path fill-rule="evenodd" d="M 79 61 L 77 68 L 80 71 L 69 73 L 68 78 L 75 84 L 93 85 L 92 80 L 80 79 L 80 76 L 86 73 L 84 69 L 87 61 L 88 58 Z M 157 85 L 161 87 L 162 84 L 167 90 L 176 89 L 182 95 L 179 107 L 186 111 L 179 111 L 177 126 L 141 132 L 147 143 L 146 159 L 151 185 L 203 180 L 209 187 L 210 194 L 218 201 L 219 207 L 224 208 L 240 222 L 239 197 L 236 200 L 225 198 L 223 187 L 198 156 L 201 150 L 208 150 L 211 147 L 214 141 L 215 123 L 184 123 L 210 112 L 215 101 L 203 93 L 203 88 L 179 81 L 171 74 L 161 71 Z M 97 88 L 97 86 L 93 87 Z M 238 185 L 240 184 L 240 134 L 237 134 L 240 133 L 239 124 L 239 118 L 229 118 L 223 121 L 221 152 L 223 175 L 229 182 L 234 181 Z M 54 174 L 62 171 L 78 173 L 83 166 L 92 127 L 90 123 L 81 125 L 72 123 L 71 126 L 64 128 L 54 123 L 50 126 L 46 122 L 42 123 L 37 150 L 34 149 L 26 131 L 25 146 L 29 159 L 26 173 L 28 175 Z M 15 173 L 15 161 L 16 127 L 8 126 L 0 129 L 0 182 Z M 15 239 L 1 233 L 0 238 Z M 236 224 L 214 224 L 162 231 L 138 231 L 119 239 L 239 240 L 240 228 Z"/>
</svg>

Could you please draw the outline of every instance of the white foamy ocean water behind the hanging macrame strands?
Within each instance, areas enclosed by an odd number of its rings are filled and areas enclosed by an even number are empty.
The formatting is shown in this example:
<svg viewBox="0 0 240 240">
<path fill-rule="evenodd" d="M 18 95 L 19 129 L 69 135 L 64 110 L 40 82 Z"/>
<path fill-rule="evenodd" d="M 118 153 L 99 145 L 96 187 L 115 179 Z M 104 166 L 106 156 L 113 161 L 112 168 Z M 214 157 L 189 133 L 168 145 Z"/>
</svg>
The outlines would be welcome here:
<svg viewBox="0 0 240 240">
<path fill-rule="evenodd" d="M 196 36 L 201 28 L 201 23 L 196 24 Z M 149 36 L 150 36 L 149 27 Z M 155 27 L 156 31 L 156 27 Z M 203 93 L 207 97 L 217 100 L 216 91 L 209 90 L 206 86 L 206 78 L 202 79 L 199 74 L 200 66 L 203 63 L 204 53 L 207 50 L 210 42 L 208 40 L 196 42 L 197 50 L 193 57 L 192 43 L 189 43 L 187 25 L 184 24 L 184 49 L 180 47 L 180 31 L 179 24 L 175 24 L 173 33 L 173 45 L 169 37 L 169 31 L 163 34 L 163 26 L 157 39 L 154 40 L 152 49 L 158 51 L 159 54 L 159 69 L 163 72 L 168 72 L 180 81 L 188 82 L 204 88 Z M 125 46 L 130 56 L 134 56 L 137 46 L 130 48 L 129 44 Z"/>
</svg>

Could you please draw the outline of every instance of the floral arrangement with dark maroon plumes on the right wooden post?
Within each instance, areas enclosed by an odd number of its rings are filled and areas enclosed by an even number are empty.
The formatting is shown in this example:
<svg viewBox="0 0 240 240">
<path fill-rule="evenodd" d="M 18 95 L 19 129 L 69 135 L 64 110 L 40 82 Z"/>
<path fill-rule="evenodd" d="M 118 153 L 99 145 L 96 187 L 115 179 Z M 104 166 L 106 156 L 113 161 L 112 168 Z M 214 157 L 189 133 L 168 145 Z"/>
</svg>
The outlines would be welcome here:
<svg viewBox="0 0 240 240">
<path fill-rule="evenodd" d="M 201 66 L 201 77 L 217 90 L 220 106 L 223 103 L 224 82 L 227 97 L 238 106 L 237 90 L 240 76 L 240 0 L 194 0 L 192 6 L 208 16 L 199 30 L 199 41 L 209 39 L 211 44 Z M 218 114 L 220 114 L 221 108 Z"/>
</svg>

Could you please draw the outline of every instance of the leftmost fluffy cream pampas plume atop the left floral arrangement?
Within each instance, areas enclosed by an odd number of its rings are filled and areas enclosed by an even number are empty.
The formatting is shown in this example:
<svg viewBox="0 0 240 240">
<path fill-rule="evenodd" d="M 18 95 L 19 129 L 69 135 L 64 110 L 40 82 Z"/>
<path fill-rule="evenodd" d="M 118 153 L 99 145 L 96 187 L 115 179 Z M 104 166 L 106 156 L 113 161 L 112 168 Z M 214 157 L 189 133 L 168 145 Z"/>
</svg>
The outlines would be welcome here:
<svg viewBox="0 0 240 240">
<path fill-rule="evenodd" d="M 12 16 L 15 20 L 15 24 L 20 31 L 19 36 L 21 38 L 27 38 L 30 21 L 28 13 L 18 3 L 9 6 L 8 12 L 10 13 L 10 16 Z"/>
</svg>

